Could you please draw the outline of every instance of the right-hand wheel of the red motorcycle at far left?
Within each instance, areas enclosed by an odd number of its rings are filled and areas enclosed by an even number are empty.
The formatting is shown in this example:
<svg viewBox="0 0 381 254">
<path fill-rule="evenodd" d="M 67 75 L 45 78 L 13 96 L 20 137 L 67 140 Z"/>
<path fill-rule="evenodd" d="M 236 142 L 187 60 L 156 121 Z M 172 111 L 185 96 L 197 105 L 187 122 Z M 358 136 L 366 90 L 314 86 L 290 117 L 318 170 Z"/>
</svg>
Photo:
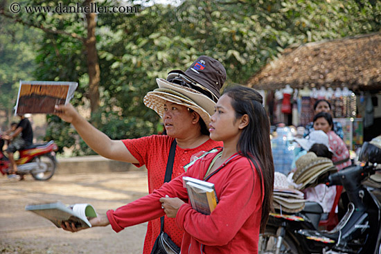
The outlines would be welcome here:
<svg viewBox="0 0 381 254">
<path fill-rule="evenodd" d="M 33 159 L 33 162 L 39 164 L 39 167 L 30 171 L 30 174 L 37 181 L 46 181 L 51 179 L 55 172 L 55 158 L 51 154 L 44 154 Z"/>
</svg>

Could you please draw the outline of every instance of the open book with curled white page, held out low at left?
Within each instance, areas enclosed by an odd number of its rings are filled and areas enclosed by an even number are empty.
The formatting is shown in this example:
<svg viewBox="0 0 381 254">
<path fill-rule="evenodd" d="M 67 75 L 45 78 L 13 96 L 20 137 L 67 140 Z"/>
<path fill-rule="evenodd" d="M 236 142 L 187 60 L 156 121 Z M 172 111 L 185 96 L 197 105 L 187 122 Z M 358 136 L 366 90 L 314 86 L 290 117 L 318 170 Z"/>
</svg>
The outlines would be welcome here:
<svg viewBox="0 0 381 254">
<path fill-rule="evenodd" d="M 35 214 L 45 217 L 53 222 L 57 228 L 61 227 L 62 221 L 70 221 L 78 228 L 91 228 L 87 217 L 96 217 L 96 211 L 88 203 L 76 203 L 72 206 L 65 206 L 61 202 L 40 203 L 28 205 L 25 210 L 35 212 Z"/>
</svg>

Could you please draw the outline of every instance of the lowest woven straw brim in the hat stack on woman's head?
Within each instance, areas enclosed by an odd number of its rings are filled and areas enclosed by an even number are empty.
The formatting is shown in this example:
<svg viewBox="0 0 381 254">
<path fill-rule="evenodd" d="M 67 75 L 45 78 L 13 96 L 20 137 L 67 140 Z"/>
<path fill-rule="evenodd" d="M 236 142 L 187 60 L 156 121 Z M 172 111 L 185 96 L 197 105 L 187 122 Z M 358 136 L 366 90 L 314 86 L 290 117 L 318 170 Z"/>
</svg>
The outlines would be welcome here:
<svg viewBox="0 0 381 254">
<path fill-rule="evenodd" d="M 156 111 L 156 113 L 159 114 L 161 118 L 163 118 L 163 115 L 165 113 L 164 104 L 166 103 L 166 101 L 173 102 L 178 105 L 182 105 L 190 109 L 193 109 L 195 112 L 197 112 L 197 114 L 200 115 L 202 120 L 204 120 L 206 126 L 208 126 L 211 122 L 211 116 L 208 114 L 208 112 L 202 109 L 202 107 L 198 106 L 195 102 L 191 100 L 186 100 L 183 97 L 175 96 L 172 93 L 151 91 L 148 92 L 143 98 L 145 106 Z"/>
</svg>

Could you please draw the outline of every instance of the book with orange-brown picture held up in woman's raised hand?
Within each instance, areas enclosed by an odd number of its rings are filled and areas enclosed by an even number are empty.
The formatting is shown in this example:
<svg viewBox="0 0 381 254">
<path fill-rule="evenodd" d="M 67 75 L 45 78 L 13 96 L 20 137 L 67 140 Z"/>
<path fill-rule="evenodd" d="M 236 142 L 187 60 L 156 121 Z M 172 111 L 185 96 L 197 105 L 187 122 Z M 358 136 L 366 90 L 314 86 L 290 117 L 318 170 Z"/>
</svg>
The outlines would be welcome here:
<svg viewBox="0 0 381 254">
<path fill-rule="evenodd" d="M 15 115 L 54 113 L 54 106 L 67 104 L 77 87 L 77 82 L 20 80 Z"/>
</svg>

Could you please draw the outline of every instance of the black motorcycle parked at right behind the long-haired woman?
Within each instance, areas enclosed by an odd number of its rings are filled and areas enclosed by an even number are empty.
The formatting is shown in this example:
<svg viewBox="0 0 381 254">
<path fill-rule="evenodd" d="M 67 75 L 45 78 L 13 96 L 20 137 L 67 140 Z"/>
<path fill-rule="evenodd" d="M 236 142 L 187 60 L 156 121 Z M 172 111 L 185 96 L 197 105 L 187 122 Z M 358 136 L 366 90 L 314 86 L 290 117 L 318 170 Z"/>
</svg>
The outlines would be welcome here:
<svg viewBox="0 0 381 254">
<path fill-rule="evenodd" d="M 366 180 L 381 171 L 381 146 L 365 142 L 360 165 L 321 176 L 320 183 L 342 185 L 348 196 L 348 209 L 332 230 L 319 229 L 323 210 L 318 203 L 306 202 L 295 214 L 273 213 L 260 235 L 260 254 L 381 254 L 381 183 Z"/>
</svg>

